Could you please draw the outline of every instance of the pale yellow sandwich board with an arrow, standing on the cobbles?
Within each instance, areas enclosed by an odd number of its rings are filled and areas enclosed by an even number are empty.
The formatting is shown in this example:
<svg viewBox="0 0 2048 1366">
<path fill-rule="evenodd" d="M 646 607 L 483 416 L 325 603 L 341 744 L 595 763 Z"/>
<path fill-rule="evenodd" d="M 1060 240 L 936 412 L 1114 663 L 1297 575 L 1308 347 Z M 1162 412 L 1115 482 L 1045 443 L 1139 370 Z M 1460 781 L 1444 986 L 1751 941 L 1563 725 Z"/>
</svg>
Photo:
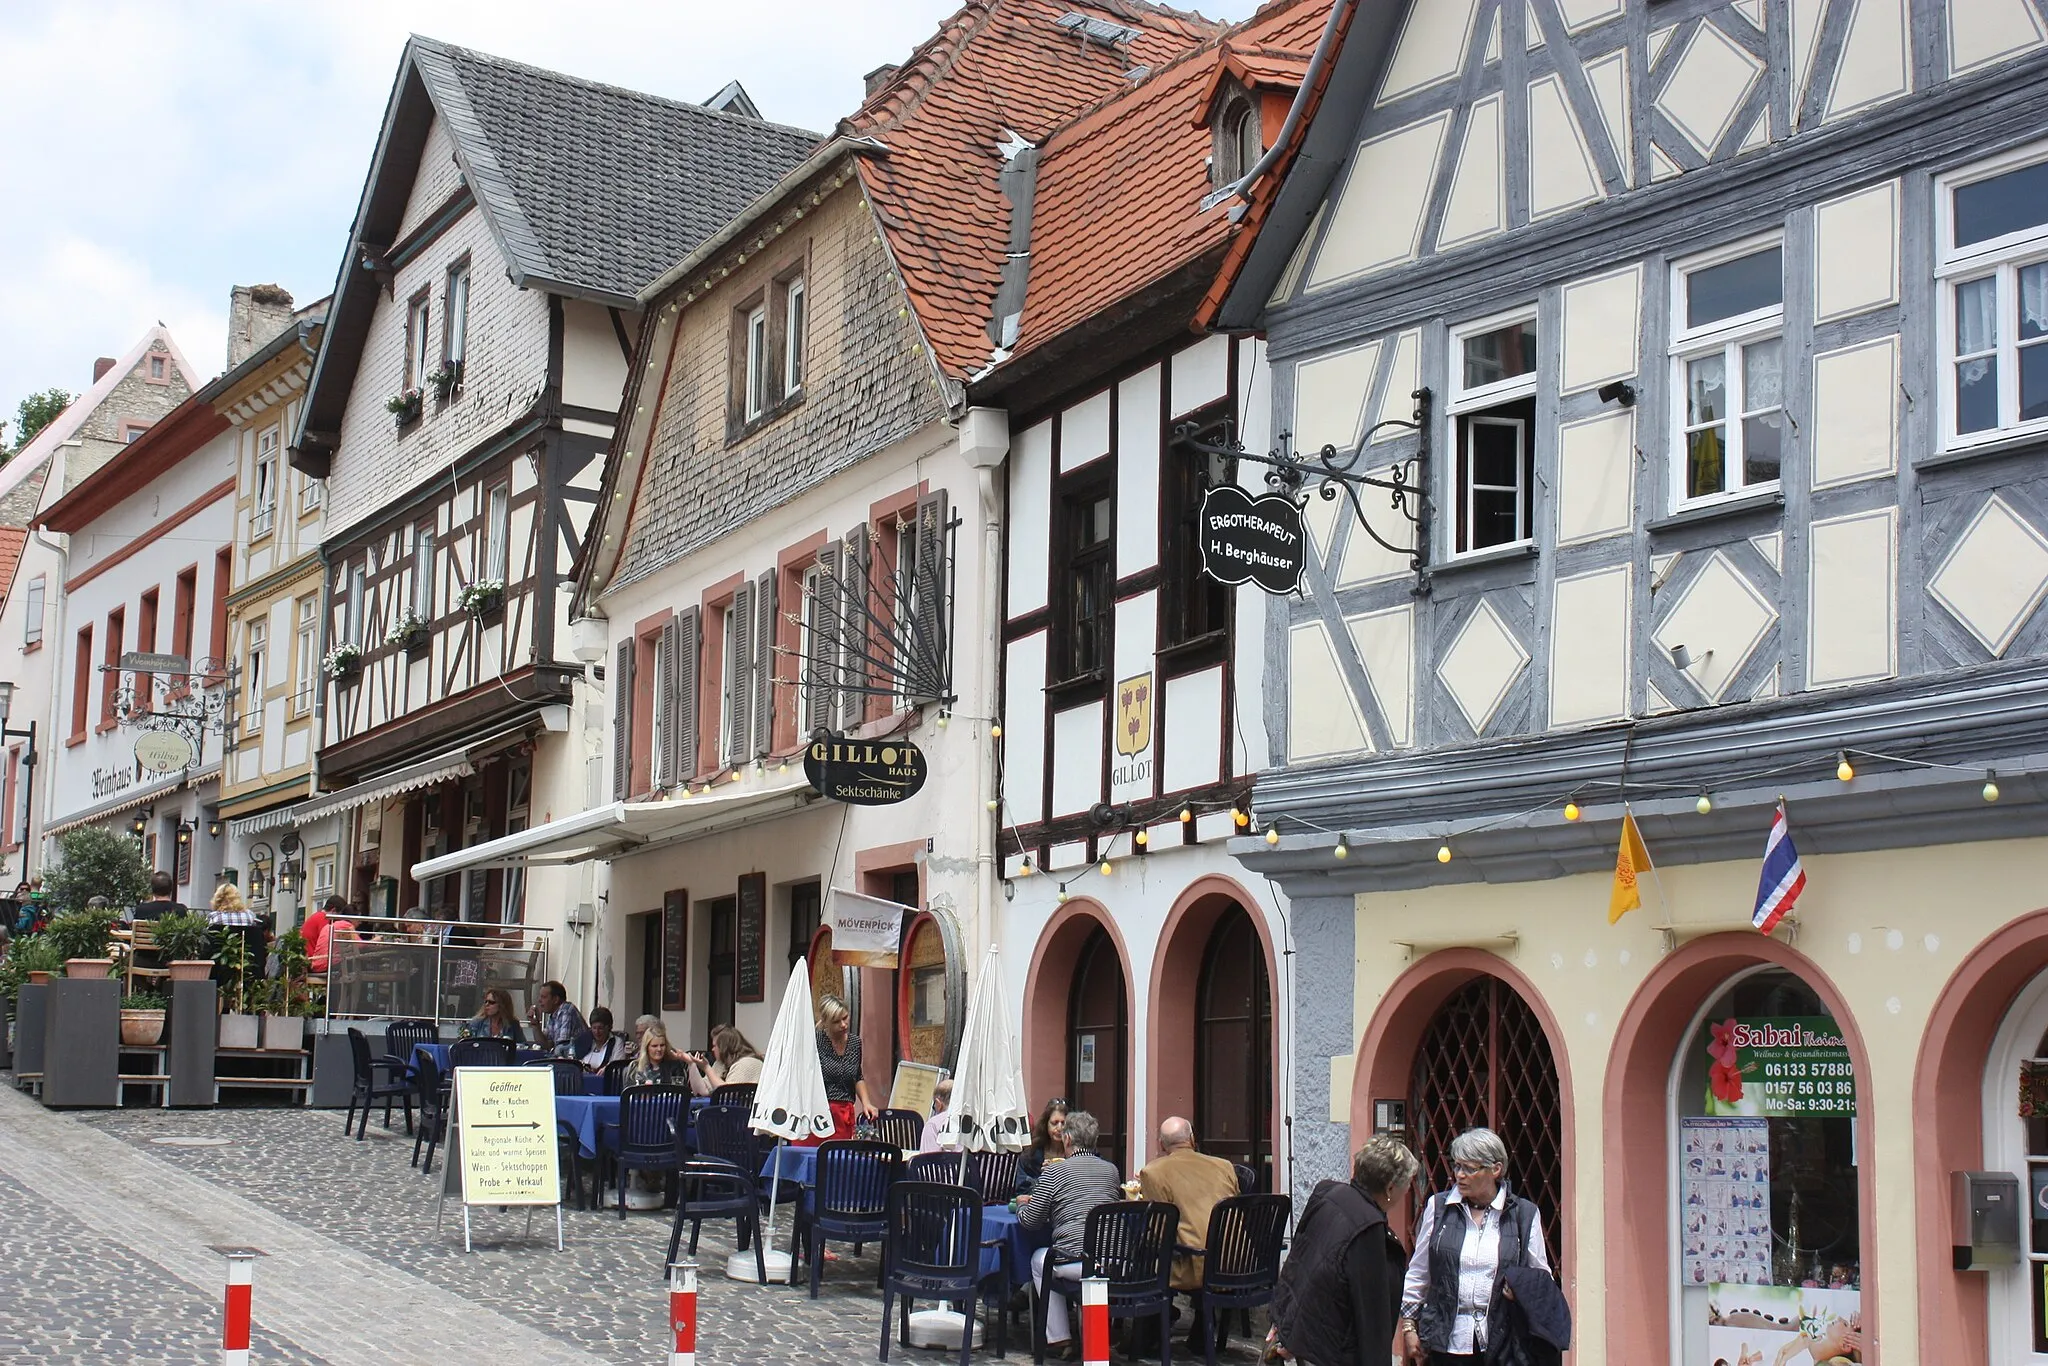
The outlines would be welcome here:
<svg viewBox="0 0 2048 1366">
<path fill-rule="evenodd" d="M 555 1249 L 561 1249 L 561 1167 L 555 1157 L 553 1067 L 457 1067 L 455 1157 L 463 1182 L 463 1251 L 469 1251 L 471 1206 L 555 1206 Z"/>
</svg>

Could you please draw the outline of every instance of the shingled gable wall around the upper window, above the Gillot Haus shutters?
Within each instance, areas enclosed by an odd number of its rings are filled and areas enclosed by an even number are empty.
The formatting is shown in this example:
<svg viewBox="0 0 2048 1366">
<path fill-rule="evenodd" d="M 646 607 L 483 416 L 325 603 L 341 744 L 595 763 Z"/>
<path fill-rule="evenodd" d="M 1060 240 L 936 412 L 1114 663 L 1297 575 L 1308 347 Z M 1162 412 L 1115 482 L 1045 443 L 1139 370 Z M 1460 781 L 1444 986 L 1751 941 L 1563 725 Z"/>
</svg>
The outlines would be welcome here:
<svg viewBox="0 0 2048 1366">
<path fill-rule="evenodd" d="M 805 397 L 727 444 L 733 309 L 807 260 Z M 674 299 L 672 299 L 674 301 Z M 662 303 L 666 307 L 668 301 Z M 858 182 L 748 252 L 717 289 L 684 305 L 674 354 L 657 352 L 639 401 L 662 393 L 651 461 L 610 588 L 641 580 L 834 473 L 944 418 L 932 362 Z M 668 387 L 662 389 L 662 367 Z"/>
</svg>

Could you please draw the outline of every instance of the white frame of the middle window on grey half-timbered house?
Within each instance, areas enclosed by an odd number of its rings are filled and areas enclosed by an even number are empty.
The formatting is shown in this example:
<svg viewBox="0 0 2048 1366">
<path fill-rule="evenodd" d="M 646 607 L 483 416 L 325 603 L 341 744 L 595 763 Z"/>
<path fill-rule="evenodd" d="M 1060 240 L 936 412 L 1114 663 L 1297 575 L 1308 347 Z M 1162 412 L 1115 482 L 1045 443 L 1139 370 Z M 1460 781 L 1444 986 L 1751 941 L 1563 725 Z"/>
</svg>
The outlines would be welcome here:
<svg viewBox="0 0 2048 1366">
<path fill-rule="evenodd" d="M 1778 303 L 1767 309 L 1751 309 L 1749 313 L 1735 313 L 1731 317 L 1716 317 L 1700 328 L 1686 328 L 1686 281 L 1700 270 L 1712 266 L 1724 266 L 1731 260 L 1743 260 L 1745 256 L 1755 256 L 1757 252 L 1767 252 L 1778 248 Z M 1784 233 L 1765 233 L 1761 238 L 1745 238 L 1741 242 L 1731 242 L 1726 246 L 1714 248 L 1712 252 L 1702 252 L 1698 256 L 1688 256 L 1686 260 L 1671 262 L 1671 508 L 1702 508 L 1716 502 L 1729 502 L 1737 498 L 1751 498 L 1759 489 L 1774 489 L 1782 479 L 1757 479 L 1755 483 L 1745 483 L 1745 453 L 1743 453 L 1743 422 L 1755 418 L 1757 414 L 1769 412 L 1763 408 L 1751 410 L 1749 395 L 1743 391 L 1743 348 L 1757 342 L 1780 342 L 1780 389 L 1790 387 L 1792 379 L 1792 354 L 1782 346 L 1786 332 L 1786 305 L 1784 305 Z M 1700 494 L 1698 498 L 1686 494 L 1686 367 L 1692 360 L 1704 360 L 1706 356 L 1720 352 L 1722 375 L 1729 393 L 1729 412 L 1720 418 L 1720 426 L 1726 428 L 1726 444 L 1722 446 L 1722 477 L 1724 487 L 1714 494 Z M 1786 442 L 1790 444 L 1792 418 L 1784 408 L 1784 397 L 1780 395 L 1778 412 L 1782 414 Z M 1708 424 L 1702 424 L 1708 426 Z M 1782 453 L 1780 453 L 1782 459 Z"/>
</svg>

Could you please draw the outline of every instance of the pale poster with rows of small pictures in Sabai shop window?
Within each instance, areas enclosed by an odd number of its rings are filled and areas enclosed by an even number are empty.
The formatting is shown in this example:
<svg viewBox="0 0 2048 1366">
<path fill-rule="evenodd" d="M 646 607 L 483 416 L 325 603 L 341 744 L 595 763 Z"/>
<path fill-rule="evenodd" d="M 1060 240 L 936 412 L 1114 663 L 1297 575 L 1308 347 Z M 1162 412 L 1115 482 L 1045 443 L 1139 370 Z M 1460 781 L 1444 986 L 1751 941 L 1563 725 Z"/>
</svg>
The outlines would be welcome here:
<svg viewBox="0 0 2048 1366">
<path fill-rule="evenodd" d="M 1772 1282 L 1769 1120 L 1679 1120 L 1679 1274 L 1688 1286 Z"/>
</svg>

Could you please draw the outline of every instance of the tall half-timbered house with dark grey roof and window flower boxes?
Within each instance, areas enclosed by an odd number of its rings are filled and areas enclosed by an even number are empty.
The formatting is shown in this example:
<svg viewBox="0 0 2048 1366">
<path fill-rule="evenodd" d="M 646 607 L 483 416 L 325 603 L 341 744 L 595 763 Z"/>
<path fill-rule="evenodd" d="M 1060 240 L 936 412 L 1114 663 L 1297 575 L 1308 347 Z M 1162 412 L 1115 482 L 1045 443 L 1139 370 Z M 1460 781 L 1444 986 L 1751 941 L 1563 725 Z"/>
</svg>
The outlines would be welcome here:
<svg viewBox="0 0 2048 1366">
<path fill-rule="evenodd" d="M 815 141 L 717 102 L 406 45 L 291 457 L 326 487 L 299 817 L 354 817 L 338 885 L 371 913 L 520 922 L 520 872 L 414 864 L 588 803 L 567 584 L 635 295 Z M 580 901 L 535 887 L 551 922 Z"/>
</svg>

